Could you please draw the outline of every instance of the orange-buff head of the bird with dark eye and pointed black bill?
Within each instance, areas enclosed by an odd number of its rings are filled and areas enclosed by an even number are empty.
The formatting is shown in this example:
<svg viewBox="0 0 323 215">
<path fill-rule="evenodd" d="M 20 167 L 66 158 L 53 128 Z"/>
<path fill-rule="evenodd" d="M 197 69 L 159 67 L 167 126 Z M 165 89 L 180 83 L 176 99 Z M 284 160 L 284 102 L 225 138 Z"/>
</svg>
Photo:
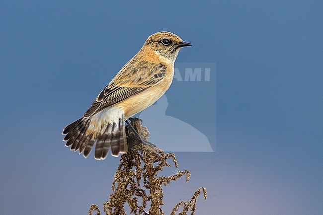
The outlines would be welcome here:
<svg viewBox="0 0 323 215">
<path fill-rule="evenodd" d="M 192 46 L 193 44 L 184 42 L 176 34 L 161 31 L 157 32 L 146 40 L 145 49 L 153 50 L 157 55 L 168 61 L 174 62 L 179 50 L 184 46 Z"/>
</svg>

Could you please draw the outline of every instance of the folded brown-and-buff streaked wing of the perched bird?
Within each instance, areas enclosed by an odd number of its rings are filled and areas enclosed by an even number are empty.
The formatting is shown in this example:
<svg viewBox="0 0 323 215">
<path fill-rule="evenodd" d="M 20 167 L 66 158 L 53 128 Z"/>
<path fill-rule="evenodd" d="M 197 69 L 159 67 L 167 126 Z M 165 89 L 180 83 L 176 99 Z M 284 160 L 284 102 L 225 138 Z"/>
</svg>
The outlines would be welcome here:
<svg viewBox="0 0 323 215">
<path fill-rule="evenodd" d="M 166 74 L 166 66 L 160 63 L 141 62 L 136 67 L 127 65 L 100 92 L 90 108 L 84 113 L 84 117 L 97 114 L 111 105 L 154 86 Z"/>
</svg>

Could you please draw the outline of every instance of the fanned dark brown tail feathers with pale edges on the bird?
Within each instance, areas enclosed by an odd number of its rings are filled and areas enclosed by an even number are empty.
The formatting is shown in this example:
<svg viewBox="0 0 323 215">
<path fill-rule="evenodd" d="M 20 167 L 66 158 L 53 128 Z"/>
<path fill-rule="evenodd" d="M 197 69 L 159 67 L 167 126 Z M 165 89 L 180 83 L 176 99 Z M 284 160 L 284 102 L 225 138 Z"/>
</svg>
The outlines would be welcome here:
<svg viewBox="0 0 323 215">
<path fill-rule="evenodd" d="M 103 160 L 107 157 L 109 148 L 111 154 L 118 156 L 119 153 L 127 152 L 127 142 L 125 140 L 124 116 L 118 122 L 109 123 L 100 136 L 92 136 L 86 133 L 91 122 L 91 118 L 82 117 L 81 119 L 66 126 L 62 132 L 66 135 L 63 141 L 65 146 L 71 146 L 71 150 L 79 150 L 86 158 L 96 143 L 94 157 Z"/>
</svg>

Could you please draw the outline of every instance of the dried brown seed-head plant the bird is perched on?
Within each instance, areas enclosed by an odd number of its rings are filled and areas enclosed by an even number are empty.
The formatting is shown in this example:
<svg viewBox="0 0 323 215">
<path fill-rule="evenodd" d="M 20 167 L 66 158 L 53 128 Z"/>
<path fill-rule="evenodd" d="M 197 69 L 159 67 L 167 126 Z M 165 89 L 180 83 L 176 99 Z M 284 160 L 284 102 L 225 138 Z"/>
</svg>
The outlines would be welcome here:
<svg viewBox="0 0 323 215">
<path fill-rule="evenodd" d="M 141 123 L 142 121 L 138 118 L 131 119 L 131 125 L 143 139 L 148 141 L 149 131 Z M 171 181 L 175 181 L 184 175 L 186 175 L 186 181 L 188 181 L 190 171 L 184 170 L 168 177 L 159 177 L 158 173 L 163 170 L 163 167 L 171 166 L 168 163 L 169 159 L 172 159 L 176 168 L 178 167 L 175 155 L 164 153 L 156 147 L 143 145 L 128 126 L 126 133 L 131 151 L 123 154 L 120 158 L 120 164 L 112 183 L 113 193 L 110 194 L 109 201 L 103 205 L 104 213 L 106 215 L 126 215 L 124 206 L 127 204 L 130 208 L 130 214 L 164 215 L 161 208 L 163 205 L 162 185 L 166 186 Z M 189 202 L 181 201 L 178 203 L 170 215 L 176 215 L 180 206 L 183 209 L 178 215 L 187 215 L 189 211 L 191 211 L 191 215 L 194 215 L 196 200 L 201 191 L 203 191 L 204 199 L 206 199 L 206 189 L 201 187 L 195 191 Z M 150 208 L 146 211 L 148 203 L 150 203 Z M 92 215 L 93 211 L 96 211 L 96 215 L 100 215 L 96 205 L 91 205 L 88 214 Z"/>
</svg>

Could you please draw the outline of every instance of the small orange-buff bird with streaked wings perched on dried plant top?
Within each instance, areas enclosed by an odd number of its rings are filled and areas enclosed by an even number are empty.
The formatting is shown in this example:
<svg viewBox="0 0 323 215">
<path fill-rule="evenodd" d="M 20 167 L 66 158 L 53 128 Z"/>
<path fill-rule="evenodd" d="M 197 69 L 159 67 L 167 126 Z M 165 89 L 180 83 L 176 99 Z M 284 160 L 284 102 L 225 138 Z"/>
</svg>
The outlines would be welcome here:
<svg viewBox="0 0 323 215">
<path fill-rule="evenodd" d="M 154 104 L 169 88 L 179 50 L 192 46 L 170 32 L 148 37 L 140 51 L 99 93 L 79 120 L 66 126 L 63 141 L 86 158 L 94 143 L 94 157 L 103 160 L 126 153 L 125 120 Z"/>
</svg>

